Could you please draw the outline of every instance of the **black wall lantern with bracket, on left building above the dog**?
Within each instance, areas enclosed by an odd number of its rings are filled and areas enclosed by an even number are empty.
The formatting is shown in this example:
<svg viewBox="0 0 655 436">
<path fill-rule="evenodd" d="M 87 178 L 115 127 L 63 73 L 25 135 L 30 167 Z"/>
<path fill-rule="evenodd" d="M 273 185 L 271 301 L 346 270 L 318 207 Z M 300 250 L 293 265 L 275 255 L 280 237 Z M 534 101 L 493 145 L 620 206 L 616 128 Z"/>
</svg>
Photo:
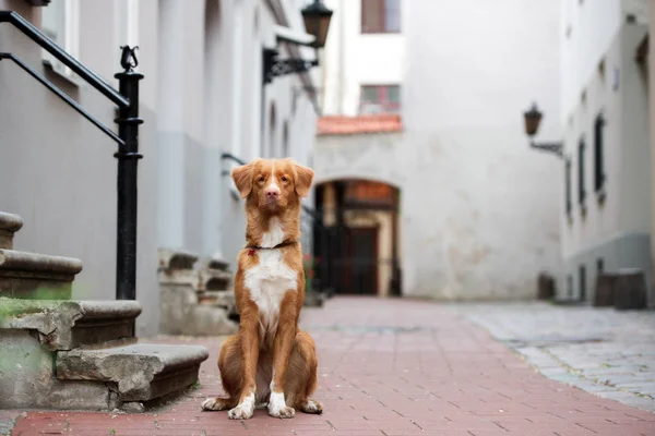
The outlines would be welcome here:
<svg viewBox="0 0 655 436">
<path fill-rule="evenodd" d="M 278 33 L 277 39 L 298 46 L 313 47 L 317 51 L 315 59 L 309 61 L 305 59 L 277 59 L 279 55 L 277 49 L 264 48 L 264 85 L 273 82 L 274 77 L 302 73 L 319 65 L 319 49 L 325 47 L 332 11 L 321 0 L 314 0 L 301 13 L 305 21 L 305 28 L 313 38 L 303 39 L 295 37 L 290 33 L 286 35 Z"/>
</svg>

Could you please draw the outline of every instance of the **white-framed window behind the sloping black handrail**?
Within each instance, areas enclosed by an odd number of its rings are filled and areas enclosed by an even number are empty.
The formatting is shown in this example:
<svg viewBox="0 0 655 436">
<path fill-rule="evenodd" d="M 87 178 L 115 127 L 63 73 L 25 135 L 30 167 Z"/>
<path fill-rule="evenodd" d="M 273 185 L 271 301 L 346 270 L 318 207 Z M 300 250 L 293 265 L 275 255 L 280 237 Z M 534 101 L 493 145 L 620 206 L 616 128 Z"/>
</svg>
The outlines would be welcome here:
<svg viewBox="0 0 655 436">
<path fill-rule="evenodd" d="M 80 0 L 58 0 L 43 8 L 44 33 L 59 47 L 73 58 L 80 55 Z M 61 63 L 57 58 L 43 51 L 44 63 L 68 78 L 73 78 L 71 69 Z"/>
</svg>

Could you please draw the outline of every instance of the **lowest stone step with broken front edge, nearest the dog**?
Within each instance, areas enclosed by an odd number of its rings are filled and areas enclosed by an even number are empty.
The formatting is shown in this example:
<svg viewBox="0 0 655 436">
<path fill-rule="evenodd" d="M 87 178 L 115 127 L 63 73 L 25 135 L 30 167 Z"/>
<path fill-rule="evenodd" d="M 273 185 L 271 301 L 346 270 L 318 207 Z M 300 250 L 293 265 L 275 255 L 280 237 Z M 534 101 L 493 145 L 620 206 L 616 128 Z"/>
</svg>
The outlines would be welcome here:
<svg viewBox="0 0 655 436">
<path fill-rule="evenodd" d="M 209 358 L 199 346 L 135 343 L 57 353 L 57 378 L 114 383 L 118 402 L 145 402 L 188 388 Z"/>
</svg>

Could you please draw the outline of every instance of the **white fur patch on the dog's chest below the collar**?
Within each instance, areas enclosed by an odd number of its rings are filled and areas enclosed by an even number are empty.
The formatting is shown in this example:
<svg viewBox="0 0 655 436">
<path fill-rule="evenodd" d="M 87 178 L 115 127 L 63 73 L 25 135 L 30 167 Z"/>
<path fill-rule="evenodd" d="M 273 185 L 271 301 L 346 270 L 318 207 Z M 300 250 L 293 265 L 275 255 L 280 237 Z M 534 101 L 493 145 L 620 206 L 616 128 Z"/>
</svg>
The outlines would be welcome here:
<svg viewBox="0 0 655 436">
<path fill-rule="evenodd" d="M 259 264 L 245 274 L 245 284 L 259 308 L 260 338 L 270 342 L 277 331 L 282 299 L 296 291 L 298 272 L 284 263 L 281 249 L 259 250 L 258 256 Z"/>
</svg>

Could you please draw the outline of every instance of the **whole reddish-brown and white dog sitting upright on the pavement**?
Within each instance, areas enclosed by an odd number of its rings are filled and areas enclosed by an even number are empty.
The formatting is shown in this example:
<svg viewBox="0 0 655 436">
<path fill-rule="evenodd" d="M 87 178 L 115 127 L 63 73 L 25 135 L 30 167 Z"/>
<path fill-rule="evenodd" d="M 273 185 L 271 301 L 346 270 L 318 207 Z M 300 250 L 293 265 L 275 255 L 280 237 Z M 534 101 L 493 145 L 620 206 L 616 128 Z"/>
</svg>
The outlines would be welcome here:
<svg viewBox="0 0 655 436">
<path fill-rule="evenodd" d="M 315 346 L 298 329 L 305 300 L 300 198 L 309 194 L 313 171 L 290 159 L 258 159 L 231 175 L 248 218 L 235 279 L 239 332 L 218 356 L 228 398 L 207 398 L 202 408 L 229 409 L 233 420 L 249 419 L 266 403 L 275 417 L 293 417 L 295 409 L 321 413 L 321 403 L 309 398 L 317 387 Z"/>
</svg>

